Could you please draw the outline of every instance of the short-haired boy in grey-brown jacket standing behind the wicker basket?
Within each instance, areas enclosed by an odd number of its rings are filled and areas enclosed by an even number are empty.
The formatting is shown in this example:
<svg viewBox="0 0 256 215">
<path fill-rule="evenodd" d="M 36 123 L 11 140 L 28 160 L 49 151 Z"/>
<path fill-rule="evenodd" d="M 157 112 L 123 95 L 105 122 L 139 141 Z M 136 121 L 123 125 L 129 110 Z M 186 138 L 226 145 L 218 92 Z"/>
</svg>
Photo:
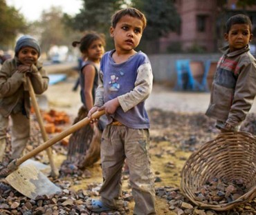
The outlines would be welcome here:
<svg viewBox="0 0 256 215">
<path fill-rule="evenodd" d="M 206 115 L 217 120 L 221 132 L 237 132 L 256 94 L 256 60 L 248 45 L 253 39 L 249 17 L 230 17 L 224 36 L 228 45 L 221 49 Z"/>
</svg>

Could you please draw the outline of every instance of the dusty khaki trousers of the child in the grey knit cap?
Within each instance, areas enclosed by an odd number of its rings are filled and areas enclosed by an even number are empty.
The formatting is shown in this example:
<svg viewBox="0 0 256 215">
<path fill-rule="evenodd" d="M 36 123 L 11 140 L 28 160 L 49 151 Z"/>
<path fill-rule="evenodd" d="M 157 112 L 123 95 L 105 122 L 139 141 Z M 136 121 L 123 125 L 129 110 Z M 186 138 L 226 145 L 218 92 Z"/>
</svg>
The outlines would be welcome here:
<svg viewBox="0 0 256 215">
<path fill-rule="evenodd" d="M 30 119 L 21 112 L 10 114 L 10 134 L 12 154 L 11 158 L 19 158 L 22 156 L 28 139 L 30 136 Z M 9 117 L 0 114 L 0 140 L 6 139 Z"/>
</svg>

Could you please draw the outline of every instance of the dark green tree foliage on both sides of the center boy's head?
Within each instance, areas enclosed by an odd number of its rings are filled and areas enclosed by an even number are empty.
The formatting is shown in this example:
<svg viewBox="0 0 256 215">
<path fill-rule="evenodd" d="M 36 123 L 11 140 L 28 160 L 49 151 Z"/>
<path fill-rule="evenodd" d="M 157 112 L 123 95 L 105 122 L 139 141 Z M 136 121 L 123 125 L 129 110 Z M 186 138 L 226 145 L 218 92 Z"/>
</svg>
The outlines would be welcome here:
<svg viewBox="0 0 256 215">
<path fill-rule="evenodd" d="M 64 16 L 66 25 L 75 30 L 95 30 L 104 33 L 107 50 L 113 48 L 109 37 L 111 16 L 116 10 L 133 6 L 145 13 L 147 28 L 143 40 L 152 41 L 167 35 L 170 31 L 179 30 L 180 17 L 176 12 L 173 0 L 82 0 L 83 7 L 75 17 Z"/>
</svg>

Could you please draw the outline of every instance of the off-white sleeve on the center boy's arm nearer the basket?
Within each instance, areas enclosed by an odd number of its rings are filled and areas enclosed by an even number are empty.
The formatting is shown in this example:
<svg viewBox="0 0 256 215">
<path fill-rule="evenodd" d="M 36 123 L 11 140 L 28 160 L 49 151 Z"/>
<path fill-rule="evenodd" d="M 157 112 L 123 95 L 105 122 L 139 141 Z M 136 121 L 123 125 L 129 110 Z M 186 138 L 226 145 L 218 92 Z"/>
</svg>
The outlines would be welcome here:
<svg viewBox="0 0 256 215">
<path fill-rule="evenodd" d="M 145 101 L 152 92 L 153 74 L 149 63 L 144 63 L 138 68 L 137 79 L 134 90 L 122 96 L 118 96 L 118 101 L 122 110 L 127 112 L 138 103 Z"/>
</svg>

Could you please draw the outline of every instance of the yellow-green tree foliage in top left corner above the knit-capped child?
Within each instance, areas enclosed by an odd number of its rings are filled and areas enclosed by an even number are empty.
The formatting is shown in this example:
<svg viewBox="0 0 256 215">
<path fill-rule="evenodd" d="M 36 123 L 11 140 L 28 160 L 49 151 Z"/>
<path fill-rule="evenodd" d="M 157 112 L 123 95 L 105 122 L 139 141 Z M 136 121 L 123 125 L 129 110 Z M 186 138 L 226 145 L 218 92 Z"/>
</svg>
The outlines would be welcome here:
<svg viewBox="0 0 256 215">
<path fill-rule="evenodd" d="M 24 16 L 14 7 L 7 6 L 6 0 L 0 0 L 0 32 L 0 48 L 8 48 L 19 33 L 27 32 Z"/>
</svg>

